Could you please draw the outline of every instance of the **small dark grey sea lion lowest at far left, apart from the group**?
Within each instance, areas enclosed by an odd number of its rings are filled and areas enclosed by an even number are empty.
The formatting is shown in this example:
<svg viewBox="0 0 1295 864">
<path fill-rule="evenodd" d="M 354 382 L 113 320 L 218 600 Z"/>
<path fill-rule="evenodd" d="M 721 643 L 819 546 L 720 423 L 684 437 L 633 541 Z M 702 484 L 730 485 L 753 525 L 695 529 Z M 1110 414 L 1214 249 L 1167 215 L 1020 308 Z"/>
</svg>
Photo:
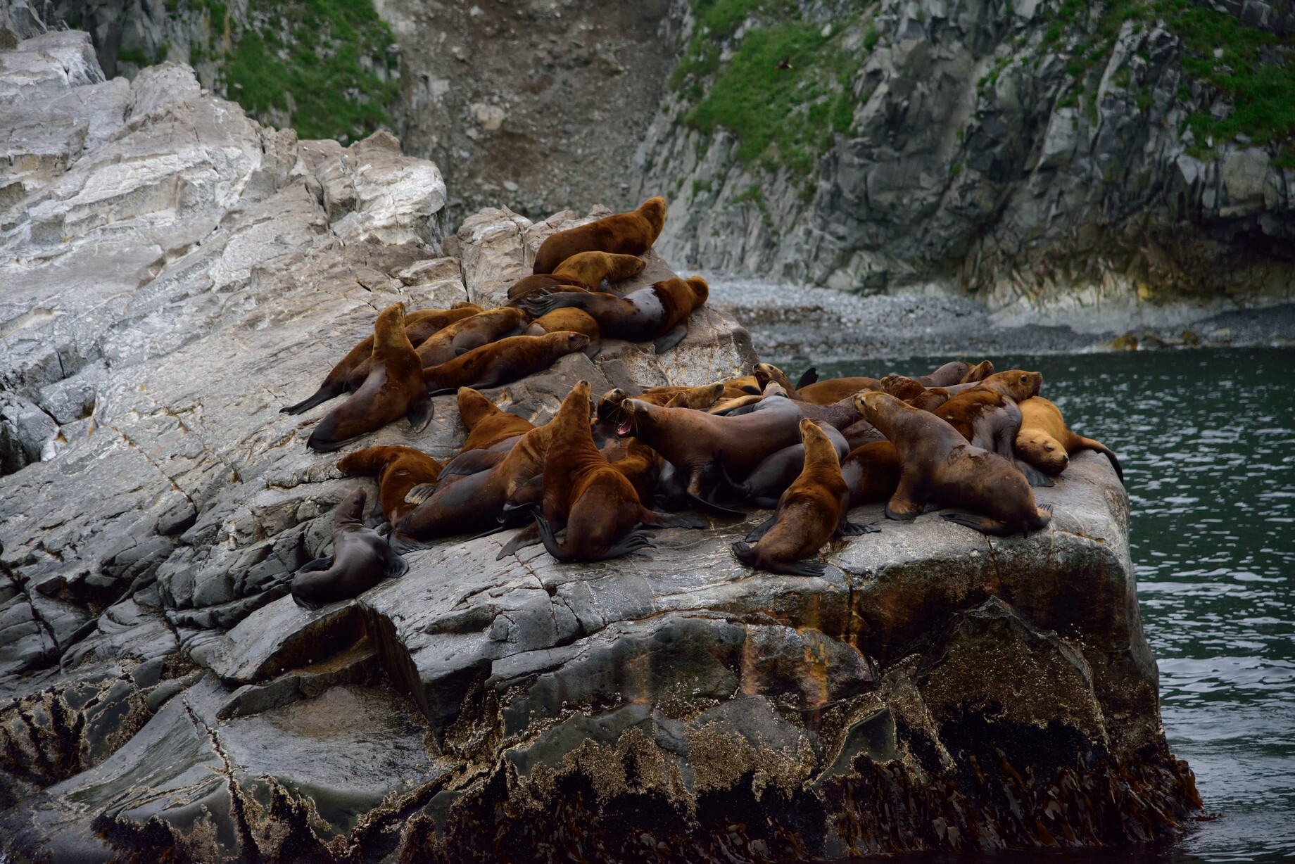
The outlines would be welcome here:
<svg viewBox="0 0 1295 864">
<path fill-rule="evenodd" d="M 315 558 L 293 576 L 293 600 L 302 609 L 357 597 L 409 569 L 382 535 L 364 527 L 364 501 L 363 486 L 346 496 L 333 514 L 333 557 Z"/>
</svg>

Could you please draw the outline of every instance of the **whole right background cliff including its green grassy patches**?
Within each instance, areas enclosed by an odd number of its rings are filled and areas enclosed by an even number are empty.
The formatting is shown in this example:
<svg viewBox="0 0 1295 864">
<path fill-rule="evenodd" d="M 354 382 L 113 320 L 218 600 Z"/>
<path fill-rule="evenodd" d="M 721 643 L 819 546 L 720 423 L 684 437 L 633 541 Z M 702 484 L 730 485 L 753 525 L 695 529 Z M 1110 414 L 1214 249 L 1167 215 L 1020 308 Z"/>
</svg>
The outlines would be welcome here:
<svg viewBox="0 0 1295 864">
<path fill-rule="evenodd" d="M 632 187 L 672 260 L 1120 333 L 1292 298 L 1285 6 L 694 5 Z"/>
</svg>

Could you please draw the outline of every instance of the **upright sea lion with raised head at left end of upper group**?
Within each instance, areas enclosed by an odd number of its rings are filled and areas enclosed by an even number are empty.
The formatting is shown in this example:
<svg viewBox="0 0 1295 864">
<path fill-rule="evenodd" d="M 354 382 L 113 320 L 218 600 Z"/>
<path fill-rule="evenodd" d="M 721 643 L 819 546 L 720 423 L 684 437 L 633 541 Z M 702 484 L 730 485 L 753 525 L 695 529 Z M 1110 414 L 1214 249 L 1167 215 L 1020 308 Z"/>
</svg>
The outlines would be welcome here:
<svg viewBox="0 0 1295 864">
<path fill-rule="evenodd" d="M 404 303 L 388 306 L 373 325 L 373 370 L 364 386 L 315 426 L 306 446 L 319 452 L 339 449 L 360 435 L 405 417 L 414 431 L 431 420 L 431 400 L 422 382 L 422 363 L 404 332 Z"/>
</svg>

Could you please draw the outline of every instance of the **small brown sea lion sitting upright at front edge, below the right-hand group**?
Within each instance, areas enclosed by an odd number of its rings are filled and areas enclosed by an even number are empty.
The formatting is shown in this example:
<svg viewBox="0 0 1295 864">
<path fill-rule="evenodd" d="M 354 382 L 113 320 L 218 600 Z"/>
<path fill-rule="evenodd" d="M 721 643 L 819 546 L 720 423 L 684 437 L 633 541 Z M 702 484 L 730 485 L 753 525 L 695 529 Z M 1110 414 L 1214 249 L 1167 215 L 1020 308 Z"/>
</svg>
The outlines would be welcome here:
<svg viewBox="0 0 1295 864">
<path fill-rule="evenodd" d="M 855 536 L 878 529 L 850 521 L 850 488 L 840 475 L 837 446 L 812 420 L 800 421 L 804 468 L 782 492 L 773 516 L 733 544 L 733 554 L 750 567 L 795 576 L 821 576 L 826 565 L 804 563 L 834 534 Z M 755 543 L 754 547 L 747 543 Z"/>
</svg>

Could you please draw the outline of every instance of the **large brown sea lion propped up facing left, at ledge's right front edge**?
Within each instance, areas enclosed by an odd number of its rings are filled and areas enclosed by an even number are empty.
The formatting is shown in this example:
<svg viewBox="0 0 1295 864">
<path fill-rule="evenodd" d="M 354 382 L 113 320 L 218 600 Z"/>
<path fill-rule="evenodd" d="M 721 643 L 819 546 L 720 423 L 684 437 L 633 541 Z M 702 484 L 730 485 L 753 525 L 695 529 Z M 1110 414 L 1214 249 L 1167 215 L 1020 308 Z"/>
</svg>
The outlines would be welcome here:
<svg viewBox="0 0 1295 864">
<path fill-rule="evenodd" d="M 899 453 L 900 482 L 886 504 L 887 517 L 910 519 L 927 503 L 957 506 L 971 513 L 944 518 L 998 536 L 1037 531 L 1052 521 L 1052 509 L 1035 503 L 1030 483 L 998 453 L 973 447 L 953 426 L 895 396 L 864 392 L 855 399 Z"/>
</svg>

